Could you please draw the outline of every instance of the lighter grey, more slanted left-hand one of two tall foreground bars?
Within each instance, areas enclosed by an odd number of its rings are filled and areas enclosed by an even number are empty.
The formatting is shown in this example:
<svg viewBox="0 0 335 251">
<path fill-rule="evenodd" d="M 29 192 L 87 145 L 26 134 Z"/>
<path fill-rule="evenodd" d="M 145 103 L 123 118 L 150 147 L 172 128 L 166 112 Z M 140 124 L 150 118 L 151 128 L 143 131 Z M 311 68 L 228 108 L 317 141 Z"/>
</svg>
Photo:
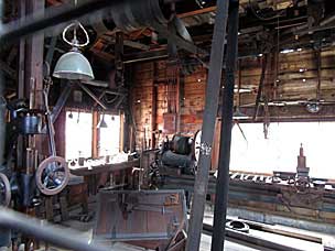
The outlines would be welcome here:
<svg viewBox="0 0 335 251">
<path fill-rule="evenodd" d="M 214 138 L 213 132 L 215 129 L 215 120 L 218 107 L 218 94 L 221 83 L 228 7 L 228 0 L 217 0 L 217 13 L 214 25 L 208 81 L 206 87 L 206 102 L 203 116 L 199 165 L 195 179 L 191 222 L 186 242 L 187 251 L 197 251 L 201 243 L 208 184 L 208 172 L 212 160 L 210 153 Z"/>
</svg>

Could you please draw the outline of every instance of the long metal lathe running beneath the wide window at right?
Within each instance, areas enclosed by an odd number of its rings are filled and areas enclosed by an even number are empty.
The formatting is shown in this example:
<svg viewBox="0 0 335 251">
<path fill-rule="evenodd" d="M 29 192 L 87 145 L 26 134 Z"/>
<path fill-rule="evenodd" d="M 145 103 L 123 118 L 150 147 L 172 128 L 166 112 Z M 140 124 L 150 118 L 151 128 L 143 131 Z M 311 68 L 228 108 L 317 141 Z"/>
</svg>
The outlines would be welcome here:
<svg viewBox="0 0 335 251">
<path fill-rule="evenodd" d="M 331 217 L 335 217 L 335 184 L 333 181 L 311 177 L 309 171 L 302 146 L 298 155 L 296 172 L 275 171 L 273 175 L 264 175 L 231 171 L 230 212 L 242 214 L 245 219 L 249 220 L 334 234 L 335 221 Z M 165 172 L 160 174 L 160 178 L 161 188 L 183 188 L 186 194 L 194 192 L 194 175 Z M 216 177 L 210 175 L 207 187 L 208 198 L 215 196 L 215 189 Z M 302 214 L 304 210 L 307 214 Z M 269 217 L 263 218 L 264 212 Z M 305 220 L 305 223 L 301 223 L 301 220 Z"/>
</svg>

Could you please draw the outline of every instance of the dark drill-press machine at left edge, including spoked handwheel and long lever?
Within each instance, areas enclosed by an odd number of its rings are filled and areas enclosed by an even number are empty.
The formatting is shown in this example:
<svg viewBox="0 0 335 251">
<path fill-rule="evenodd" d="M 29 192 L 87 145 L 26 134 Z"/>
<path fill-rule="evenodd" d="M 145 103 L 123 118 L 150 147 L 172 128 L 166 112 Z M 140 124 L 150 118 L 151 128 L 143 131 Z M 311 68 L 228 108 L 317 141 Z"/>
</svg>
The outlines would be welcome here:
<svg viewBox="0 0 335 251">
<path fill-rule="evenodd" d="M 0 166 L 0 206 L 30 211 L 47 196 L 61 193 L 69 172 L 63 157 L 56 156 L 54 129 L 47 105 L 48 85 L 44 89 L 45 110 L 31 109 L 24 100 L 7 103 L 9 120 L 4 161 Z M 36 135 L 47 134 L 51 156 L 36 150 Z M 23 151 L 24 150 L 24 151 Z M 9 245 L 11 231 L 0 233 L 0 247 Z"/>
</svg>

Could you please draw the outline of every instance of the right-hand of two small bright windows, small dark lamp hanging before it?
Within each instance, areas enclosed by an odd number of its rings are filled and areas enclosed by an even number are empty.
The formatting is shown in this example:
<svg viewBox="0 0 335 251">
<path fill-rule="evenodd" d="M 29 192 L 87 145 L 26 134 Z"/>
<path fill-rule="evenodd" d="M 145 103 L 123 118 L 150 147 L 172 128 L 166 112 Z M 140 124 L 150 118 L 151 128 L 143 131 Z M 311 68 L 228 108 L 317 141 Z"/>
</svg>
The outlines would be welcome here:
<svg viewBox="0 0 335 251">
<path fill-rule="evenodd" d="M 100 119 L 102 116 L 100 116 Z M 105 114 L 107 128 L 100 128 L 99 155 L 114 155 L 120 151 L 120 116 Z"/>
</svg>

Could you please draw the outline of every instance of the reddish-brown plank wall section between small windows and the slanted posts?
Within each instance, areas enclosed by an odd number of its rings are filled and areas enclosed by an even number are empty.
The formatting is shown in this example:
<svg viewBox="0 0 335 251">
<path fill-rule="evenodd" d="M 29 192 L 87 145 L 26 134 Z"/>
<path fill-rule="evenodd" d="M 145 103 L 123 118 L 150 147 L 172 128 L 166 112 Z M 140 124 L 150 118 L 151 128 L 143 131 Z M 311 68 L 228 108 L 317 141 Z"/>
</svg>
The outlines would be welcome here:
<svg viewBox="0 0 335 251">
<path fill-rule="evenodd" d="M 169 97 L 174 97 L 172 103 L 177 102 L 177 86 L 168 88 L 169 79 L 166 75 L 166 62 L 150 62 L 137 64 L 134 66 L 133 87 L 132 87 L 132 113 L 137 126 L 136 145 L 142 149 L 149 140 L 152 130 L 152 120 L 155 121 L 155 128 L 161 130 L 163 134 L 171 137 L 173 133 L 164 133 L 164 113 L 171 108 L 168 107 Z M 206 87 L 206 69 L 199 68 L 191 76 L 184 76 L 183 97 L 179 107 L 180 129 L 182 133 L 194 133 L 202 127 L 202 114 L 205 106 L 205 87 Z M 155 118 L 152 117 L 153 111 L 153 89 L 156 88 L 156 111 Z M 144 140 L 145 131 L 145 140 Z M 163 134 L 160 142 L 163 139 Z M 156 133 L 158 138 L 158 133 Z"/>
</svg>

